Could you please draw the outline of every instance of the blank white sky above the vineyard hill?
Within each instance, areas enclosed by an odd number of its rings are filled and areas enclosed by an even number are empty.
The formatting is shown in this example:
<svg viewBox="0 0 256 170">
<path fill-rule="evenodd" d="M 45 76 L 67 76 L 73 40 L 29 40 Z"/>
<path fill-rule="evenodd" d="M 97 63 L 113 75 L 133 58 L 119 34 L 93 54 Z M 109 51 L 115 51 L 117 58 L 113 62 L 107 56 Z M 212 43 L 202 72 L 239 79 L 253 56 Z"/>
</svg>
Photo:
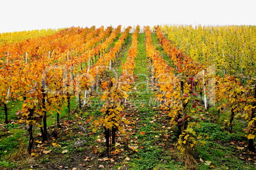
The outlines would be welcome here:
<svg viewBox="0 0 256 170">
<path fill-rule="evenodd" d="M 256 25 L 255 0 L 0 0 L 0 33 L 96 25 Z"/>
</svg>

